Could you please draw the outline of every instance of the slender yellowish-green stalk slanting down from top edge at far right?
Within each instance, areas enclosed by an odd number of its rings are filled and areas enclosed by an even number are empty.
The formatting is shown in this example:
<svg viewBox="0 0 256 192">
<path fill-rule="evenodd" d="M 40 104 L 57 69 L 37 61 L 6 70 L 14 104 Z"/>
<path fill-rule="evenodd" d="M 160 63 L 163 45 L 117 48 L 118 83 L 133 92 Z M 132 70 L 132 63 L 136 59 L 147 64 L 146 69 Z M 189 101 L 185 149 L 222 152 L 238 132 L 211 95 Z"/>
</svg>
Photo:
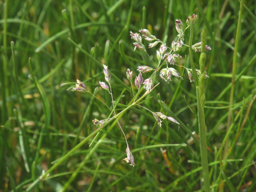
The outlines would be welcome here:
<svg viewBox="0 0 256 192">
<path fill-rule="evenodd" d="M 238 52 L 239 38 L 240 38 L 240 32 L 241 32 L 241 19 L 242 19 L 243 5 L 244 5 L 244 0 L 241 0 L 238 24 L 237 24 L 237 28 L 236 28 L 235 50 L 234 50 L 234 54 L 233 54 L 232 79 L 231 79 L 229 105 L 232 105 L 233 100 L 234 100 L 234 90 L 235 90 L 235 82 L 236 82 L 236 60 L 237 60 L 237 52 Z M 232 119 L 232 108 L 229 108 L 228 117 L 227 117 L 227 131 L 230 129 L 231 119 Z M 227 141 L 224 146 L 224 152 L 223 152 L 224 160 L 227 158 L 227 154 L 228 154 L 228 141 L 229 141 L 229 137 L 227 138 Z"/>
</svg>

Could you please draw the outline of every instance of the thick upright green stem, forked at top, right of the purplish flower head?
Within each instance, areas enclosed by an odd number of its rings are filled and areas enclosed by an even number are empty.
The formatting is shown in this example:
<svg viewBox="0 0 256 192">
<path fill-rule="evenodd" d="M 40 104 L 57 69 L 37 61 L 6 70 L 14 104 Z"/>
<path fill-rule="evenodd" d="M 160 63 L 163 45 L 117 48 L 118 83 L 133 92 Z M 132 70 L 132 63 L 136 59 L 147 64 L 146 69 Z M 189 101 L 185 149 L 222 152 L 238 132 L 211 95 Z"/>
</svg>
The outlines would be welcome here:
<svg viewBox="0 0 256 192">
<path fill-rule="evenodd" d="M 201 153 L 201 163 L 202 163 L 202 171 L 204 177 L 204 191 L 210 191 L 210 183 L 209 183 L 209 170 L 208 170 L 208 160 L 207 160 L 207 143 L 206 143 L 206 128 L 205 128 L 205 121 L 204 121 L 204 82 L 205 82 L 205 73 L 201 73 L 198 76 L 195 71 L 195 65 L 193 62 L 193 55 L 192 55 L 192 39 L 193 39 L 193 25 L 190 24 L 190 38 L 189 38 L 189 58 L 193 73 L 193 79 L 195 80 L 196 86 L 196 97 L 197 97 L 197 105 L 198 105 L 198 125 L 199 125 L 199 137 L 200 137 L 200 153 Z M 205 43 L 204 43 L 205 45 Z M 204 48 L 202 48 L 204 49 Z M 203 54 L 204 51 L 203 51 Z M 203 61 L 205 59 L 201 59 L 200 56 L 200 68 L 204 67 Z"/>
</svg>

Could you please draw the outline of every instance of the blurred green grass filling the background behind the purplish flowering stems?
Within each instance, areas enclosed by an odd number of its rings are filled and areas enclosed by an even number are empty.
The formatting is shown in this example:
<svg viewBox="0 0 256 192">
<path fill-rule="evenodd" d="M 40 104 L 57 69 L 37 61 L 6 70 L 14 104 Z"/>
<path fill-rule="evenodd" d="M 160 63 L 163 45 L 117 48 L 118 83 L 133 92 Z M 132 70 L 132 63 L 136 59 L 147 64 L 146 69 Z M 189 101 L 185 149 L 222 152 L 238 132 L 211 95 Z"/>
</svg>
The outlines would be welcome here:
<svg viewBox="0 0 256 192">
<path fill-rule="evenodd" d="M 111 84 L 114 100 L 122 104 L 116 107 L 120 111 L 132 98 L 125 75 L 127 68 L 137 75 L 137 66 L 151 64 L 145 52 L 133 51 L 129 31 L 147 28 L 170 46 L 172 40 L 177 39 L 175 19 L 185 23 L 193 13 L 198 15 L 194 44 L 200 41 L 201 29 L 205 28 L 207 45 L 212 47 L 207 52 L 206 70 L 210 78 L 206 81 L 205 107 L 212 191 L 254 191 L 256 7 L 253 0 L 245 2 L 242 13 L 236 70 L 241 76 L 235 84 L 230 131 L 226 132 L 239 3 L 235 0 L 0 2 L 0 41 L 3 42 L 0 191 L 30 190 L 30 184 L 35 183 L 42 172 L 96 130 L 93 119 L 106 119 L 110 114 L 108 108 L 90 94 L 66 90 L 79 79 L 108 106 L 112 105 L 111 96 L 99 87 L 99 81 L 104 80 L 102 66 L 68 38 L 97 61 L 108 65 L 116 75 L 117 78 L 112 76 Z M 185 34 L 185 43 L 188 41 L 189 31 Z M 157 60 L 155 52 L 154 48 L 148 50 L 154 61 Z M 188 49 L 183 48 L 180 55 L 183 59 L 179 64 L 190 68 Z M 199 55 L 194 53 L 197 68 Z M 193 131 L 198 134 L 198 121 L 183 99 L 185 96 L 189 105 L 197 110 L 195 86 L 182 67 L 175 68 L 183 80 L 168 84 L 155 78 L 154 85 L 160 84 L 147 96 L 143 106 L 179 119 L 180 128 L 166 121 L 160 128 L 154 117 L 142 108 L 131 108 L 119 120 L 130 149 L 134 150 L 135 167 L 122 160 L 126 156 L 126 143 L 113 121 L 102 129 L 90 148 L 92 138 L 44 181 L 38 180 L 32 190 L 201 190 L 199 143 L 191 139 Z M 69 82 L 60 87 L 61 83 Z M 229 151 L 223 160 L 227 136 Z M 166 145 L 179 143 L 187 146 Z M 145 146 L 151 147 L 143 150 Z"/>
</svg>

